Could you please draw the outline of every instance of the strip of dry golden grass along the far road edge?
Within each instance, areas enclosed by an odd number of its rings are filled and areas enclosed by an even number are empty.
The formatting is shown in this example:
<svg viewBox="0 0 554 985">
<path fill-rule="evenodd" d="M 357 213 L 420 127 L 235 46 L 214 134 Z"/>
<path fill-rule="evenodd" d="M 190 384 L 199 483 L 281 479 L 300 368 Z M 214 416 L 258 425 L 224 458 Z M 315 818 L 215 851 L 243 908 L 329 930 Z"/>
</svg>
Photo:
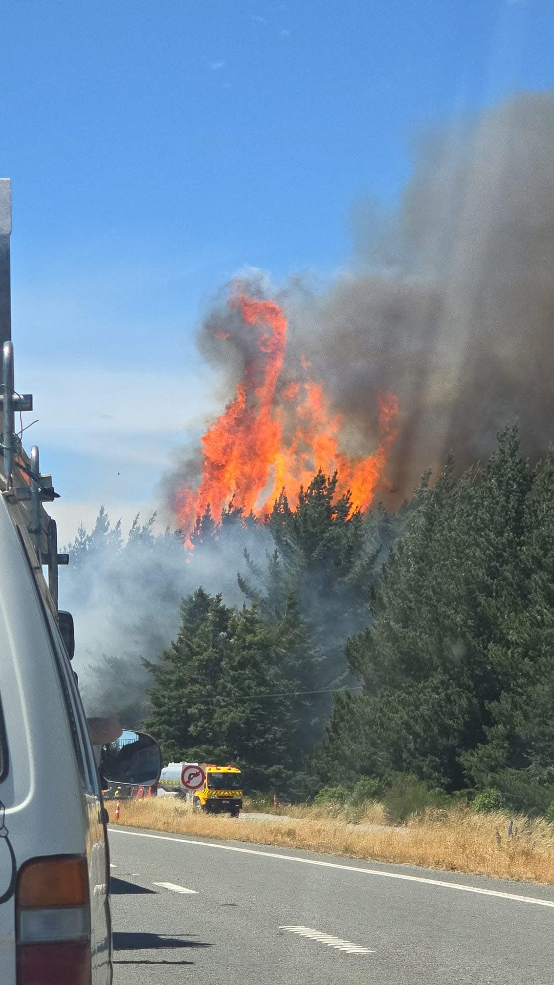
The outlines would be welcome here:
<svg viewBox="0 0 554 985">
<path fill-rule="evenodd" d="M 113 818 L 111 805 L 109 814 Z M 288 808 L 287 814 L 290 824 L 282 820 L 237 821 L 227 816 L 197 814 L 180 801 L 161 797 L 121 802 L 119 822 L 364 861 L 405 863 L 554 885 L 554 825 L 547 821 L 514 818 L 509 836 L 506 815 L 473 814 L 461 807 L 429 810 L 403 827 L 374 829 L 349 823 L 344 815 L 329 817 L 324 808 Z M 364 821 L 381 824 L 383 814 L 376 805 L 369 805 Z"/>
</svg>

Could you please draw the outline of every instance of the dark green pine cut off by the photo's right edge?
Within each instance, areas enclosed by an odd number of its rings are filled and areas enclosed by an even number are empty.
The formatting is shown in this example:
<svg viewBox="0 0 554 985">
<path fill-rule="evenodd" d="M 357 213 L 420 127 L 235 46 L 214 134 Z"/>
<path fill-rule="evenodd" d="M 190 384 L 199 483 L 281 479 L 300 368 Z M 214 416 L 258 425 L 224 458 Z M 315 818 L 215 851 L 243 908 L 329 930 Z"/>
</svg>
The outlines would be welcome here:
<svg viewBox="0 0 554 985">
<path fill-rule="evenodd" d="M 483 741 L 464 757 L 471 779 L 518 810 L 554 802 L 554 464 L 540 463 L 521 516 L 516 598 L 491 647 L 497 693 Z"/>
</svg>

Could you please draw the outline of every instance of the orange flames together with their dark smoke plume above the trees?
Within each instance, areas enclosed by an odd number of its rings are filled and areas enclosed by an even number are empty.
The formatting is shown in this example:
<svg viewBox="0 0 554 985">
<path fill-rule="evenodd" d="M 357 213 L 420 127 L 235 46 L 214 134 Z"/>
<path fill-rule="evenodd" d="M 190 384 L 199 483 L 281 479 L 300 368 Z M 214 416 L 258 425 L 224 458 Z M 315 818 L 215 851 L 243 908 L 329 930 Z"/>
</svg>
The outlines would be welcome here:
<svg viewBox="0 0 554 985">
<path fill-rule="evenodd" d="M 527 94 L 422 140 L 396 214 L 357 216 L 353 269 L 319 294 L 232 286 L 199 332 L 228 402 L 165 483 L 186 533 L 208 504 L 263 515 L 320 468 L 366 509 L 519 423 L 551 442 L 554 99 Z M 361 231 L 360 231 L 361 230 Z"/>
</svg>

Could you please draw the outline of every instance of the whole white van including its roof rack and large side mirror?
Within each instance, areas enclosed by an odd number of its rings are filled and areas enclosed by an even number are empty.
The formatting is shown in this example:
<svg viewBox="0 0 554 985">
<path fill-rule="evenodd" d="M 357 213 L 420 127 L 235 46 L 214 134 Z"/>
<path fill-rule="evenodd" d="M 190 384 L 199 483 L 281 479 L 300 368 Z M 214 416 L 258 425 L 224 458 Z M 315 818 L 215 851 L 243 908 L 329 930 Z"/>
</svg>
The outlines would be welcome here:
<svg viewBox="0 0 554 985">
<path fill-rule="evenodd" d="M 31 409 L 32 398 L 14 390 L 10 340 L 2 360 L 0 985 L 109 985 L 106 814 L 70 662 L 72 621 L 57 611 L 57 565 L 66 558 L 42 506 L 55 493 L 37 449 L 29 458 L 14 433 L 14 413 Z M 121 775 L 117 743 L 105 749 L 106 779 L 125 779 L 131 760 L 134 779 L 158 779 L 156 743 L 135 735 L 137 745 L 123 748 Z"/>
</svg>

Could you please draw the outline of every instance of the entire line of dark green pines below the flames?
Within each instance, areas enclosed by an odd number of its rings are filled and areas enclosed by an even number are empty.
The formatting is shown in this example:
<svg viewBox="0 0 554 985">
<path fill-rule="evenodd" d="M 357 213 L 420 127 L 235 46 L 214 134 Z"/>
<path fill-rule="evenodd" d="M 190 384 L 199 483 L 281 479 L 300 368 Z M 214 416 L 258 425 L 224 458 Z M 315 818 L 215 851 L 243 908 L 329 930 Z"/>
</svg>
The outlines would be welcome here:
<svg viewBox="0 0 554 985">
<path fill-rule="evenodd" d="M 529 463 L 507 428 L 489 461 L 456 476 L 450 457 L 394 513 L 362 515 L 335 488 L 319 473 L 263 523 L 233 504 L 223 526 L 209 510 L 198 519 L 194 564 L 228 563 L 230 531 L 242 545 L 240 594 L 230 601 L 204 578 L 183 593 L 163 652 L 139 645 L 145 727 L 166 759 L 237 762 L 250 790 L 304 798 L 401 773 L 448 793 L 494 788 L 515 809 L 545 811 L 551 458 Z M 256 531 L 264 550 L 253 557 Z"/>
</svg>

